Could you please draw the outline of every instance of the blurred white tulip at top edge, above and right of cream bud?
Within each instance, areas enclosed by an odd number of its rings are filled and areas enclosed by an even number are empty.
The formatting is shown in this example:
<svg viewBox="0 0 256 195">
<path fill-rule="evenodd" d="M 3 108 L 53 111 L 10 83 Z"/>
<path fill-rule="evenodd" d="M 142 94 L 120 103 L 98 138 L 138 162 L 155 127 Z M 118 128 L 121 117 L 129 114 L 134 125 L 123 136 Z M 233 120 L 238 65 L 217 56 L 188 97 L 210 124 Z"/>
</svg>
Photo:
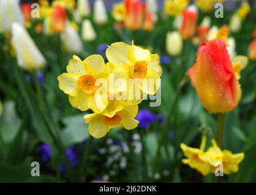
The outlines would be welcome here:
<svg viewBox="0 0 256 195">
<path fill-rule="evenodd" d="M 105 4 L 102 0 L 94 2 L 93 19 L 96 24 L 102 25 L 108 22 L 108 15 Z"/>
</svg>

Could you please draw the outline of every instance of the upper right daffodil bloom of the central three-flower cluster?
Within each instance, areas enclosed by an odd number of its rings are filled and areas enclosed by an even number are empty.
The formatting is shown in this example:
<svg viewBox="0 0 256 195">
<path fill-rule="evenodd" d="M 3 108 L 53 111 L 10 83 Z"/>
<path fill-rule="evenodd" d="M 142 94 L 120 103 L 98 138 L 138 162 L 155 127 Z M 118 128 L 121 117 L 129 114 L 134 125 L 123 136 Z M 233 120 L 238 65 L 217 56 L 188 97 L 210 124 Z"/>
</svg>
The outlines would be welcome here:
<svg viewBox="0 0 256 195">
<path fill-rule="evenodd" d="M 122 75 L 127 82 L 130 79 L 138 83 L 143 93 L 156 94 L 159 90 L 162 74 L 159 55 L 151 54 L 147 49 L 135 46 L 133 42 L 132 45 L 118 42 L 108 47 L 106 56 L 108 62 L 114 66 L 115 73 Z"/>
</svg>

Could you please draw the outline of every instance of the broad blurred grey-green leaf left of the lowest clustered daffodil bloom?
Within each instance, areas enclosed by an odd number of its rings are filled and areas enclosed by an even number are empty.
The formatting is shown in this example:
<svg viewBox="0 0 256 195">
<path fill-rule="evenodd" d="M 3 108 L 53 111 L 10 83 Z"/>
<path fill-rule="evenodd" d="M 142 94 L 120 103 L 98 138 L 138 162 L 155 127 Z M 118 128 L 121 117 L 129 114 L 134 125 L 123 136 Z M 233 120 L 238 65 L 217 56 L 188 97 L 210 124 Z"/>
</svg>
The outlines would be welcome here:
<svg viewBox="0 0 256 195">
<path fill-rule="evenodd" d="M 89 138 L 88 125 L 83 119 L 83 115 L 68 116 L 63 119 L 66 127 L 61 132 L 61 139 L 65 147 L 81 143 Z"/>
</svg>

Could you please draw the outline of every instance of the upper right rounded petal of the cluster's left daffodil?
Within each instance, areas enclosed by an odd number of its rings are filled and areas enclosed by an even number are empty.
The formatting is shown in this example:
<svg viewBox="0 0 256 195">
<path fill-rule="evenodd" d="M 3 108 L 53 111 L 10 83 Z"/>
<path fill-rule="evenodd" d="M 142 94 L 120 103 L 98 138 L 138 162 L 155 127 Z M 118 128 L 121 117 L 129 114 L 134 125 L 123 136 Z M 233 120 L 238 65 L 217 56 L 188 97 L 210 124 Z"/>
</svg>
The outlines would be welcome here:
<svg viewBox="0 0 256 195">
<path fill-rule="evenodd" d="M 99 74 L 105 71 L 105 62 L 101 55 L 91 55 L 83 62 L 86 64 L 86 70 L 89 74 Z"/>
</svg>

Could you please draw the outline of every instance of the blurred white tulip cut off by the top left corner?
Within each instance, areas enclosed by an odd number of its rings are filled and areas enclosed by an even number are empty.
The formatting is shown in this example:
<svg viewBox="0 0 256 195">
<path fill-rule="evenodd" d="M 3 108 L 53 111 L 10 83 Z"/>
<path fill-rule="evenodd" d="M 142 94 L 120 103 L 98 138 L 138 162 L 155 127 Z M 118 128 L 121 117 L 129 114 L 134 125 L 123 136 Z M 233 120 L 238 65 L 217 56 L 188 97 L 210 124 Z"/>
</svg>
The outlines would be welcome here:
<svg viewBox="0 0 256 195">
<path fill-rule="evenodd" d="M 24 25 L 24 18 L 21 13 L 19 1 L 0 1 L 0 32 L 11 32 L 12 23 Z"/>
</svg>

